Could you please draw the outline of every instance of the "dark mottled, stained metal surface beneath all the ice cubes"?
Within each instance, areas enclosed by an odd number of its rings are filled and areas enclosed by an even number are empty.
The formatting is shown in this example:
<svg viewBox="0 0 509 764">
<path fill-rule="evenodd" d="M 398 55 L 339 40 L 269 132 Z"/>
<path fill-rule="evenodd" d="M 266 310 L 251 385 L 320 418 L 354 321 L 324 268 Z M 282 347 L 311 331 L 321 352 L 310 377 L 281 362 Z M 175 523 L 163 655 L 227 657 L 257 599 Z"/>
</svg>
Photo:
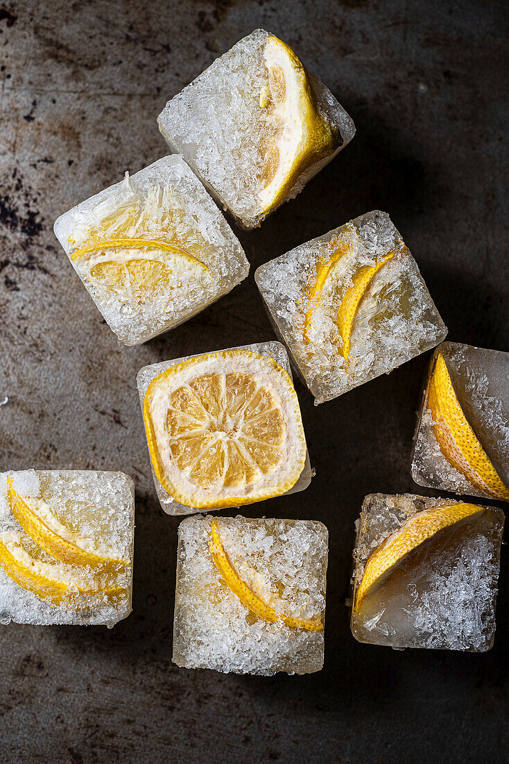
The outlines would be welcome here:
<svg viewBox="0 0 509 764">
<path fill-rule="evenodd" d="M 361 645 L 344 606 L 364 495 L 424 492 L 409 461 L 428 354 L 317 409 L 298 384 L 317 476 L 246 510 L 330 529 L 325 665 L 304 677 L 172 665 L 177 520 L 156 500 L 134 377 L 153 361 L 272 338 L 254 268 L 373 208 L 400 229 L 449 339 L 508 350 L 508 21 L 504 2 L 481 0 L 0 4 L 0 468 L 120 469 L 137 489 L 130 617 L 112 631 L 0 627 L 0 760 L 507 761 L 507 559 L 485 655 Z M 240 234 L 253 264 L 241 286 L 124 348 L 53 221 L 165 154 L 166 100 L 258 26 L 322 76 L 356 138 Z"/>
</svg>

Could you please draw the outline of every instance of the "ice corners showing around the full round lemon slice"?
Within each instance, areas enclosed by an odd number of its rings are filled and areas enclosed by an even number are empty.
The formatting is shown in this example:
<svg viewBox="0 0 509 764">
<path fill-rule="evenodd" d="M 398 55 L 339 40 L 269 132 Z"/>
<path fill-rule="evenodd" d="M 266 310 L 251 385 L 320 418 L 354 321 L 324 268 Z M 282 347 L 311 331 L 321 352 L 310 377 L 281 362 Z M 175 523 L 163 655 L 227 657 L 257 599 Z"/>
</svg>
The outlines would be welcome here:
<svg viewBox="0 0 509 764">
<path fill-rule="evenodd" d="M 280 342 L 258 342 L 254 345 L 242 345 L 238 348 L 228 348 L 228 350 L 246 350 L 250 351 L 252 353 L 259 353 L 260 355 L 263 355 L 264 358 L 272 358 L 273 361 L 275 361 L 279 366 L 281 366 L 288 376 L 290 377 L 290 380 L 292 380 L 292 369 L 290 367 L 290 362 L 288 361 L 288 354 L 285 351 L 285 348 Z M 142 369 L 137 374 L 137 385 L 138 385 L 138 393 L 140 395 L 140 405 L 141 405 L 141 411 L 143 413 L 143 405 L 145 400 L 145 393 L 147 393 L 147 389 L 152 382 L 153 379 L 156 377 L 159 377 L 159 374 L 163 374 L 163 371 L 166 371 L 166 369 L 171 368 L 172 366 L 176 366 L 176 364 L 181 363 L 181 361 L 187 361 L 188 358 L 198 358 L 199 353 L 195 355 L 188 355 L 185 358 L 174 358 L 172 361 L 162 361 L 159 364 L 150 364 L 150 366 L 143 366 Z M 150 455 L 150 452 L 149 452 Z M 161 504 L 161 507 L 163 507 L 163 510 L 169 514 L 169 515 L 188 515 L 192 514 L 194 512 L 203 512 L 203 507 L 188 507 L 185 504 L 180 503 L 179 501 L 176 501 L 166 490 L 166 488 L 161 484 L 157 478 L 156 471 L 154 469 L 152 458 L 150 458 L 150 468 L 152 469 L 152 476 L 153 476 L 153 482 L 156 487 L 156 494 L 159 498 L 159 503 Z M 295 483 L 295 485 L 290 488 L 290 490 L 286 491 L 285 494 L 295 494 L 299 490 L 304 490 L 304 488 L 307 488 L 308 485 L 311 483 L 311 478 L 314 474 L 314 471 L 311 469 L 311 463 L 309 461 L 309 453 L 306 451 L 306 461 L 304 464 L 304 469 L 301 471 L 301 474 L 298 477 L 298 481 Z M 225 504 L 225 506 L 230 506 Z M 214 509 L 221 509 L 221 507 L 215 507 Z"/>
</svg>

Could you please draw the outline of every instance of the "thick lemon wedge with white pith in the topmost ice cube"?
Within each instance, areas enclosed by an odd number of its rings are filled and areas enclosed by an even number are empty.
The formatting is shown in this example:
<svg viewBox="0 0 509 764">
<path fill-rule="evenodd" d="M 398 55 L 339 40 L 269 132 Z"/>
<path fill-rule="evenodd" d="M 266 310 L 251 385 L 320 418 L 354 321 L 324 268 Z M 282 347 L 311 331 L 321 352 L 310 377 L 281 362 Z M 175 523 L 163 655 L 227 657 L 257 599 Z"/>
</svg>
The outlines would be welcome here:
<svg viewBox="0 0 509 764">
<path fill-rule="evenodd" d="M 260 93 L 260 105 L 269 110 L 272 128 L 259 191 L 261 213 L 266 214 L 285 199 L 304 170 L 333 154 L 343 139 L 321 115 L 308 72 L 292 48 L 271 36 L 263 57 L 269 89 Z"/>
</svg>

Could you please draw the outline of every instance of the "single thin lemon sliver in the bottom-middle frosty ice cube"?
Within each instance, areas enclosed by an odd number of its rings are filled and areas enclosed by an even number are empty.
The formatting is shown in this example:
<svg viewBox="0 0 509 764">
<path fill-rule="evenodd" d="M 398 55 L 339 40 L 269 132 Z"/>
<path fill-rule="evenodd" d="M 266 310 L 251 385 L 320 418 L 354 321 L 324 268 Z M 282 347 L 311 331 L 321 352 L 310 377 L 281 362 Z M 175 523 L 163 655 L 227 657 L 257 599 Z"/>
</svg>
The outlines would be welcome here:
<svg viewBox="0 0 509 764">
<path fill-rule="evenodd" d="M 305 631 L 323 631 L 324 625 L 320 620 L 300 620 L 286 616 L 284 613 L 278 613 L 273 607 L 266 604 L 252 589 L 242 581 L 237 574 L 234 566 L 231 564 L 228 555 L 221 542 L 221 536 L 217 531 L 217 523 L 212 520 L 211 536 L 208 540 L 208 547 L 211 550 L 212 559 L 217 570 L 221 573 L 224 583 L 240 599 L 240 602 L 259 618 L 276 623 L 282 621 L 286 626 L 292 629 L 301 629 Z"/>
</svg>

